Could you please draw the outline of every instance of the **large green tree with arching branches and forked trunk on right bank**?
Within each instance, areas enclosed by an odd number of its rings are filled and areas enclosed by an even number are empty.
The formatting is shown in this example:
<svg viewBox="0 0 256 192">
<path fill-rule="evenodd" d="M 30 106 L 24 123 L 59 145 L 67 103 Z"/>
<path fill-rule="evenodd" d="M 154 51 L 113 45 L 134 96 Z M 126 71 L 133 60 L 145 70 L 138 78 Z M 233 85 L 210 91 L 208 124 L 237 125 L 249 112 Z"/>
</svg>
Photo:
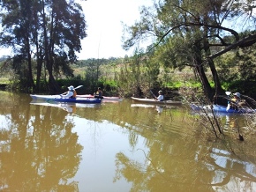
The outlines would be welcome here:
<svg viewBox="0 0 256 192">
<path fill-rule="evenodd" d="M 156 47 L 158 57 L 165 59 L 162 60 L 165 66 L 191 66 L 199 75 L 209 99 L 223 93 L 215 58 L 232 49 L 252 46 L 256 42 L 255 31 L 240 36 L 231 25 L 227 25 L 228 22 L 235 24 L 239 18 L 242 25 L 250 26 L 255 21 L 252 15 L 255 9 L 253 2 L 160 0 L 154 4 L 154 11 L 152 9 L 143 7 L 140 21 L 133 26 L 125 26 L 124 31 L 130 36 L 124 38 L 124 48 L 131 48 L 138 40 L 153 34 L 153 48 Z M 225 39 L 227 35 L 233 38 Z M 206 67 L 211 70 L 215 89 L 209 83 Z"/>
</svg>

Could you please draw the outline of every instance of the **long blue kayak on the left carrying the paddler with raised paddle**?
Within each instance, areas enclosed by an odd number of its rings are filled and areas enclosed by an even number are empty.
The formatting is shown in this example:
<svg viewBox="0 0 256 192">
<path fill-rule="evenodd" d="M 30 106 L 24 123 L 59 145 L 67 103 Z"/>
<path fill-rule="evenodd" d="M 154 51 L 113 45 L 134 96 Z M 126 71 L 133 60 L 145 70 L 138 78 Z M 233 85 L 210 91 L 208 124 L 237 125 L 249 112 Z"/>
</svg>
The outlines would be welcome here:
<svg viewBox="0 0 256 192">
<path fill-rule="evenodd" d="M 36 95 L 31 94 L 30 97 L 33 100 L 45 100 L 47 102 L 64 102 L 64 103 L 87 103 L 87 104 L 96 104 L 101 103 L 101 99 L 97 98 L 76 98 L 76 99 L 64 99 L 61 98 L 59 95 Z"/>
</svg>

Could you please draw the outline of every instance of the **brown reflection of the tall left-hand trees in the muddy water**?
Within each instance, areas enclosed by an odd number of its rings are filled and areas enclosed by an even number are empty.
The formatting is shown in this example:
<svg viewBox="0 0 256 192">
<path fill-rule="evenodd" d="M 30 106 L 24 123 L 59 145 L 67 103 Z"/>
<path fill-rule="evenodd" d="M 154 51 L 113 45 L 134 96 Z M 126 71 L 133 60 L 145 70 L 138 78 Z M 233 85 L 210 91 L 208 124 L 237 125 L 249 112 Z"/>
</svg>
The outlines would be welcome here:
<svg viewBox="0 0 256 192">
<path fill-rule="evenodd" d="M 4 111 L 8 123 L 0 132 L 1 190 L 78 191 L 77 182 L 67 183 L 78 170 L 82 151 L 73 122 L 53 107 L 31 110 L 19 107 L 23 100 L 12 101 L 17 105 Z"/>
</svg>

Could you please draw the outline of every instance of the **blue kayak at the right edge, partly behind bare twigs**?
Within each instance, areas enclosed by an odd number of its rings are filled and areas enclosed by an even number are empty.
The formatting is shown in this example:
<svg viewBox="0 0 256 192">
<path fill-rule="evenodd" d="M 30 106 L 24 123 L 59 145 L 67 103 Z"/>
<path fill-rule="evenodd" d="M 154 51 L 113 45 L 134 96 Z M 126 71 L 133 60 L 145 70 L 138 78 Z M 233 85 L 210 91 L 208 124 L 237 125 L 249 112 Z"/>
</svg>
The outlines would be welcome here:
<svg viewBox="0 0 256 192">
<path fill-rule="evenodd" d="M 207 105 L 207 106 L 198 106 L 195 104 L 191 105 L 192 110 L 201 110 L 201 111 L 206 111 L 209 112 L 211 111 L 211 106 Z M 233 109 L 233 108 L 229 108 L 227 110 L 226 106 L 221 106 L 221 105 L 213 105 L 213 109 L 215 111 L 215 113 L 229 113 L 229 114 L 254 114 L 256 113 L 256 109 L 252 109 L 252 108 L 238 108 L 238 109 Z"/>
</svg>

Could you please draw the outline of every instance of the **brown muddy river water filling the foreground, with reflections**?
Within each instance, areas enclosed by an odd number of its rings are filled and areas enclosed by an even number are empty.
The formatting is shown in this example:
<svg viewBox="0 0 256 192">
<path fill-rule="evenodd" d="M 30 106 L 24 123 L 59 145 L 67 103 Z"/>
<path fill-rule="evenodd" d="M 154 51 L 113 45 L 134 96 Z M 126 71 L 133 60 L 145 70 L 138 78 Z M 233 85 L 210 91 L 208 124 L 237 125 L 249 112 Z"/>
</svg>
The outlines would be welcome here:
<svg viewBox="0 0 256 192">
<path fill-rule="evenodd" d="M 216 139 L 184 105 L 0 98 L 0 191 L 256 191 L 256 135 L 236 139 L 244 115 L 222 115 Z"/>
</svg>

